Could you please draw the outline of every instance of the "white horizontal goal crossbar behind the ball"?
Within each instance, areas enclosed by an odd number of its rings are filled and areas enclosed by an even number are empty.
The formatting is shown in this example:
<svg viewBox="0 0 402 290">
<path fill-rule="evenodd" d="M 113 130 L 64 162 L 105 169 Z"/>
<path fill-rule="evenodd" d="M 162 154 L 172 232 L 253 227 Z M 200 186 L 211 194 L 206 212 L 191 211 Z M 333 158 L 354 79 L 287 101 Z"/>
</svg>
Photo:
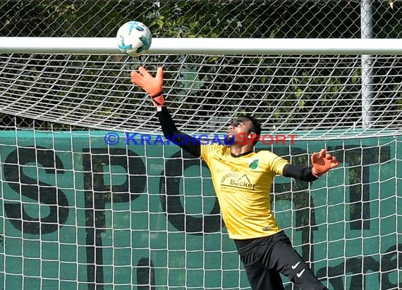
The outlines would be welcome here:
<svg viewBox="0 0 402 290">
<path fill-rule="evenodd" d="M 114 37 L 0 37 L 0 53 L 121 53 Z M 400 54 L 402 39 L 154 38 L 149 54 Z"/>
</svg>

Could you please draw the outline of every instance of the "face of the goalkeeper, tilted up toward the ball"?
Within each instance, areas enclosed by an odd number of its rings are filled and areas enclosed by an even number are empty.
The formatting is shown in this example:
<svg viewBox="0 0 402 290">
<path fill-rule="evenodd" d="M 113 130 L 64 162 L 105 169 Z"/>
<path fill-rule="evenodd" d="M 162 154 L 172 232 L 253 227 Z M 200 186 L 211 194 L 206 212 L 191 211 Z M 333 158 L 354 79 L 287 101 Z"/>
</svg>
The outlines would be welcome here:
<svg viewBox="0 0 402 290">
<path fill-rule="evenodd" d="M 248 138 L 252 134 L 252 122 L 248 118 L 232 119 L 225 138 L 227 146 L 250 146 L 252 141 Z"/>
</svg>

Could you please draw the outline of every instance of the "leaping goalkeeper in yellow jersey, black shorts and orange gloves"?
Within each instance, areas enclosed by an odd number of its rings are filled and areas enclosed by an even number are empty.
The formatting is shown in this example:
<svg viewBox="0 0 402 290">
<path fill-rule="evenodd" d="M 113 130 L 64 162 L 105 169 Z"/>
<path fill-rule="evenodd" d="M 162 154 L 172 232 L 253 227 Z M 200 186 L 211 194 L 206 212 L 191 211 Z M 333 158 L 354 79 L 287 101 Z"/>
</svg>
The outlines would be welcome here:
<svg viewBox="0 0 402 290">
<path fill-rule="evenodd" d="M 248 115 L 229 125 L 225 144 L 231 145 L 200 144 L 195 137 L 176 129 L 162 92 L 162 67 L 157 69 L 156 77 L 140 67 L 139 72 L 131 73 L 131 81 L 150 94 L 165 137 L 207 163 L 229 237 L 238 248 L 252 289 L 284 289 L 280 273 L 300 289 L 327 289 L 277 225 L 269 191 L 275 175 L 313 182 L 339 165 L 338 160 L 322 149 L 312 153 L 312 167 L 305 168 L 291 165 L 270 151 L 255 153 L 253 147 L 261 127 Z M 248 136 L 250 142 L 240 142 L 240 135 Z"/>
</svg>

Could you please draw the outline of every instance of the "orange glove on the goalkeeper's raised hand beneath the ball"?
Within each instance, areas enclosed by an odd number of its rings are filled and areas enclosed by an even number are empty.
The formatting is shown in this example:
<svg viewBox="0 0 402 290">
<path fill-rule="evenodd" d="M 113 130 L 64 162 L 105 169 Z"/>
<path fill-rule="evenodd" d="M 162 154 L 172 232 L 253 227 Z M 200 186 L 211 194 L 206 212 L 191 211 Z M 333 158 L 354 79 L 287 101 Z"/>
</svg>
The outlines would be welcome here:
<svg viewBox="0 0 402 290">
<path fill-rule="evenodd" d="M 142 66 L 138 68 L 140 73 L 131 72 L 131 82 L 147 92 L 156 108 L 165 106 L 164 95 L 162 94 L 164 73 L 162 67 L 157 69 L 157 75 L 152 77 Z"/>
</svg>

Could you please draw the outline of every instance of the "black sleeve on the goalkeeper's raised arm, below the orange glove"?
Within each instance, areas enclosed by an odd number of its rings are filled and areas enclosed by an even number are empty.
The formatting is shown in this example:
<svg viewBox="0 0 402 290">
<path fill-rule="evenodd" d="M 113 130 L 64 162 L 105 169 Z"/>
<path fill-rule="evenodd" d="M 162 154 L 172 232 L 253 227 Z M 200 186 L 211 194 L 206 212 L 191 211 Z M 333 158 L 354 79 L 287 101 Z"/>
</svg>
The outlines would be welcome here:
<svg viewBox="0 0 402 290">
<path fill-rule="evenodd" d="M 164 137 L 174 144 L 181 147 L 181 149 L 187 151 L 195 157 L 201 156 L 201 144 L 200 140 L 184 134 L 177 130 L 174 121 L 166 107 L 162 107 L 161 111 L 157 112 L 159 122 L 162 126 L 162 132 L 164 132 Z"/>
</svg>

